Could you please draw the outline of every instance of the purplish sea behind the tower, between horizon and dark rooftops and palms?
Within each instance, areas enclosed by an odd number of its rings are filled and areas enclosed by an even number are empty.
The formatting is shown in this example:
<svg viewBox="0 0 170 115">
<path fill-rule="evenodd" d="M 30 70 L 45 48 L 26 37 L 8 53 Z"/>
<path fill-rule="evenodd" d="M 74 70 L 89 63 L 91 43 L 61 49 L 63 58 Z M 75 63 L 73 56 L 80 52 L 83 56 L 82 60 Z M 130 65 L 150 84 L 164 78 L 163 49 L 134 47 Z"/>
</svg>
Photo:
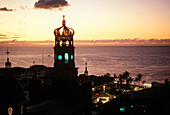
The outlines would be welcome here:
<svg viewBox="0 0 170 115">
<path fill-rule="evenodd" d="M 53 67 L 53 47 L 8 48 L 12 67 L 30 67 L 40 64 Z M 0 48 L 0 67 L 6 62 L 7 48 Z M 76 47 L 75 65 L 78 74 L 84 73 L 85 63 L 89 74 L 119 75 L 124 71 L 130 76 L 143 74 L 147 83 L 170 80 L 170 47 Z"/>
</svg>

